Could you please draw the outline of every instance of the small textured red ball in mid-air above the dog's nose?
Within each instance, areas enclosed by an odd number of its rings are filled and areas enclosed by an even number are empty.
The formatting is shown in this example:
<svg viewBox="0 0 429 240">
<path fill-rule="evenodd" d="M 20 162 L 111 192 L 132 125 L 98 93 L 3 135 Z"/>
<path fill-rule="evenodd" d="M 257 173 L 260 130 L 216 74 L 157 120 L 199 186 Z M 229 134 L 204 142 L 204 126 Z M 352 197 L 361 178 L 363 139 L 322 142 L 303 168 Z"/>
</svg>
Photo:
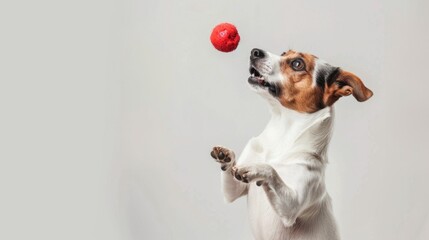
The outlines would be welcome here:
<svg viewBox="0 0 429 240">
<path fill-rule="evenodd" d="M 237 48 L 240 35 L 237 28 L 231 23 L 221 23 L 213 28 L 210 41 L 217 50 L 231 52 Z"/>
</svg>

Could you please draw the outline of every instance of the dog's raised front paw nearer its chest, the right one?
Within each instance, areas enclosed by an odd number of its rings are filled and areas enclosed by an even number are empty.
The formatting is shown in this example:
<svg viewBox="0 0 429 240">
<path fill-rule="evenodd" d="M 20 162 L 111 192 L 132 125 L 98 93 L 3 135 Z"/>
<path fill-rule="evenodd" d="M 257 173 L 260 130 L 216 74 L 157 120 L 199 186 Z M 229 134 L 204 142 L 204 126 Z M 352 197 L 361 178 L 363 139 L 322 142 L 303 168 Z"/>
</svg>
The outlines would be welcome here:
<svg viewBox="0 0 429 240">
<path fill-rule="evenodd" d="M 273 171 L 274 169 L 270 165 L 264 163 L 240 165 L 232 168 L 232 173 L 237 180 L 245 183 L 256 181 L 258 186 L 267 181 L 273 175 Z"/>
</svg>

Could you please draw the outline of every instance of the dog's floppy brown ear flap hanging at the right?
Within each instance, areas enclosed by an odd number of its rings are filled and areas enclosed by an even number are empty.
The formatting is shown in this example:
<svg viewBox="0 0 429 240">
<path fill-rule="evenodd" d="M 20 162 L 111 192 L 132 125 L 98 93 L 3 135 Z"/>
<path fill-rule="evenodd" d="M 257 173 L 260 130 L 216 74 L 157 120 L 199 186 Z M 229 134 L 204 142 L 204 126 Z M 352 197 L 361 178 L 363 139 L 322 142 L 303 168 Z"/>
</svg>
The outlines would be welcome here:
<svg viewBox="0 0 429 240">
<path fill-rule="evenodd" d="M 365 87 L 360 78 L 351 72 L 343 70 L 340 70 L 340 74 L 334 80 L 332 85 L 336 85 L 333 86 L 335 89 L 333 94 L 338 98 L 353 94 L 356 100 L 363 102 L 373 95 L 372 91 Z"/>
</svg>

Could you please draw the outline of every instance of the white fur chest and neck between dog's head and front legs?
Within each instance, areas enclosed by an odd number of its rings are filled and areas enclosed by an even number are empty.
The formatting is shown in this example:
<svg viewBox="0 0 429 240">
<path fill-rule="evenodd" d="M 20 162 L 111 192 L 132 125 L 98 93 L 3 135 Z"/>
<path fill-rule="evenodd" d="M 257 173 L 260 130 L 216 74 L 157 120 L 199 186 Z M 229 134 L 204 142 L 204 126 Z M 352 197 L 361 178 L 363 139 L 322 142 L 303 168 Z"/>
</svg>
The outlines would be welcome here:
<svg viewBox="0 0 429 240">
<path fill-rule="evenodd" d="M 242 157 L 252 162 L 285 163 L 296 153 L 311 152 L 324 158 L 332 115 L 331 108 L 312 114 L 273 109 L 271 120 L 259 136 L 250 139 Z"/>
</svg>

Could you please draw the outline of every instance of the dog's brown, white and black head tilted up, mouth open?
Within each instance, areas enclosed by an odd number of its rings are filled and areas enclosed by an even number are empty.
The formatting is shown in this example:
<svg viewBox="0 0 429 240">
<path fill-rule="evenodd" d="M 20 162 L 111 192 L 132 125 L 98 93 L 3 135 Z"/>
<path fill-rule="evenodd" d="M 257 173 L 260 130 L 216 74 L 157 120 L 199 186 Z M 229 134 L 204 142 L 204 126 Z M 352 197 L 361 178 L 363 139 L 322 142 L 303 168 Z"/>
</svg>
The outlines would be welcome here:
<svg viewBox="0 0 429 240">
<path fill-rule="evenodd" d="M 292 50 L 278 56 L 253 49 L 250 74 L 248 81 L 256 92 L 298 112 L 316 112 L 342 96 L 353 94 L 363 102 L 373 95 L 353 73 Z"/>
</svg>

